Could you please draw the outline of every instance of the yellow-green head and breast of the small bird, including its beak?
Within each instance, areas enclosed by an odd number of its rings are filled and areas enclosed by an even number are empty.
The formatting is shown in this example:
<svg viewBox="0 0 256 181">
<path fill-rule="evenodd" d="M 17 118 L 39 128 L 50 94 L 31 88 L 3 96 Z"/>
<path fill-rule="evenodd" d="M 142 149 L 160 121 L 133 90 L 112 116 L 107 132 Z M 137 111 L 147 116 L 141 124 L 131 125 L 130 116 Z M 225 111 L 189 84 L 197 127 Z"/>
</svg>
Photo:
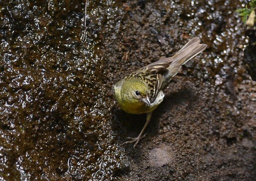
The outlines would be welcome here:
<svg viewBox="0 0 256 181">
<path fill-rule="evenodd" d="M 121 80 L 115 85 L 115 97 L 127 113 L 142 114 L 152 111 L 149 88 L 138 79 Z"/>
</svg>

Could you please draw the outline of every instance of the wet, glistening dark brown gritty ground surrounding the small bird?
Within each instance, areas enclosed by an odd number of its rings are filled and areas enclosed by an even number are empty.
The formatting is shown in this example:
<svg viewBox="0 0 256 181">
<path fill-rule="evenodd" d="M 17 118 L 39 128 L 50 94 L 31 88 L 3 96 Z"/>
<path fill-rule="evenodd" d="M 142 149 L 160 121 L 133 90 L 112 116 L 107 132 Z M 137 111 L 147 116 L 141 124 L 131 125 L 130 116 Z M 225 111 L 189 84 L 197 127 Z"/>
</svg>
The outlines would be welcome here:
<svg viewBox="0 0 256 181">
<path fill-rule="evenodd" d="M 246 0 L 1 0 L 0 180 L 254 181 L 256 82 L 242 64 Z M 113 84 L 172 56 L 153 112 L 118 108 Z"/>
</svg>

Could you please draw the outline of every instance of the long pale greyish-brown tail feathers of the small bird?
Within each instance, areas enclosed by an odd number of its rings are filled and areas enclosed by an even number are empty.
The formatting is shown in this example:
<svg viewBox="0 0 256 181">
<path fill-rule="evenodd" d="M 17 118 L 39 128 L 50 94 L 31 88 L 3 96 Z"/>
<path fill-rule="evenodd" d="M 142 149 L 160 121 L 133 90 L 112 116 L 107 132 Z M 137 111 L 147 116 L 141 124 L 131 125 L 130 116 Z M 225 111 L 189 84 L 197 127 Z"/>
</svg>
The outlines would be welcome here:
<svg viewBox="0 0 256 181">
<path fill-rule="evenodd" d="M 165 79 L 170 80 L 178 73 L 183 64 L 204 51 L 206 47 L 206 44 L 200 44 L 200 39 L 198 37 L 191 39 L 180 49 L 180 51 L 178 51 L 173 57 L 170 57 L 172 60 L 170 66 L 167 68 L 168 73 L 165 75 Z"/>
</svg>

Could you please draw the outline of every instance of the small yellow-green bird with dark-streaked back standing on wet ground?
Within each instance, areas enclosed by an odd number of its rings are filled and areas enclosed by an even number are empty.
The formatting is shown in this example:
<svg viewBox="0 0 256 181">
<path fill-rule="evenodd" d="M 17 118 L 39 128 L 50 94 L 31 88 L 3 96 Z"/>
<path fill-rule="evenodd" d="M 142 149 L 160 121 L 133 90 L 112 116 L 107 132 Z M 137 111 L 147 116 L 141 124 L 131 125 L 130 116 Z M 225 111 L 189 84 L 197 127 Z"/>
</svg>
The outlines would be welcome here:
<svg viewBox="0 0 256 181">
<path fill-rule="evenodd" d="M 174 56 L 161 58 L 139 70 L 131 73 L 114 85 L 115 98 L 119 106 L 130 114 L 147 113 L 146 123 L 136 138 L 128 137 L 134 143 L 145 137 L 142 136 L 148 126 L 152 111 L 154 111 L 164 99 L 163 89 L 180 70 L 181 66 L 206 49 L 206 44 L 200 44 L 198 37 L 191 39 Z"/>
</svg>

